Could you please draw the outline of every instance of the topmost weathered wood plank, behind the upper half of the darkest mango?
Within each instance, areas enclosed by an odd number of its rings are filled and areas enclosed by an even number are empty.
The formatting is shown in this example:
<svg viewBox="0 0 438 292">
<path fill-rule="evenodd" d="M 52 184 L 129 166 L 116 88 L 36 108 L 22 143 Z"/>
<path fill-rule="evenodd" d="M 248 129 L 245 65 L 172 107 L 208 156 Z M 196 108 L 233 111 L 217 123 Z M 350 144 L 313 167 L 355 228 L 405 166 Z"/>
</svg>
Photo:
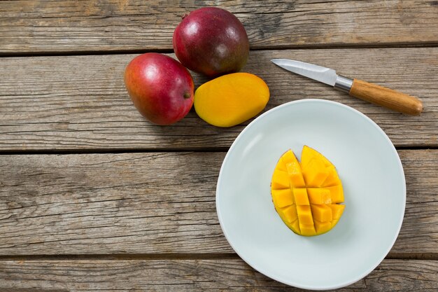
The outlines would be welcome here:
<svg viewBox="0 0 438 292">
<path fill-rule="evenodd" d="M 235 13 L 252 48 L 438 42 L 436 1 L 0 1 L 0 53 L 171 49 L 202 6 Z"/>
</svg>

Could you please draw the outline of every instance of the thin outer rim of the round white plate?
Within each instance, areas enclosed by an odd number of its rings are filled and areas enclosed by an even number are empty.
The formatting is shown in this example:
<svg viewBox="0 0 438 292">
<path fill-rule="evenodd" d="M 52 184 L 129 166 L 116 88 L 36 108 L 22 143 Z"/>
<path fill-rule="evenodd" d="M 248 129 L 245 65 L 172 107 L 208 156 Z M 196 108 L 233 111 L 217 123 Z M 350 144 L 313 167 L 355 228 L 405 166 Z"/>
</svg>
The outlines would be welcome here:
<svg viewBox="0 0 438 292">
<path fill-rule="evenodd" d="M 356 277 L 355 279 L 351 279 L 349 281 L 344 281 L 342 283 L 339 283 L 337 285 L 332 285 L 332 286 L 310 286 L 310 285 L 302 285 L 302 284 L 296 284 L 293 283 L 292 281 L 288 281 L 288 279 L 281 279 L 281 277 L 276 277 L 276 276 L 272 276 L 271 274 L 263 271 L 262 267 L 256 267 L 253 263 L 250 263 L 250 261 L 245 258 L 244 256 L 241 255 L 240 251 L 236 250 L 234 244 L 232 244 L 232 242 L 229 239 L 229 235 L 227 234 L 227 231 L 225 231 L 224 228 L 224 223 L 222 221 L 222 215 L 220 214 L 220 203 L 218 200 L 219 197 L 219 193 L 220 193 L 220 178 L 223 176 L 223 172 L 224 172 L 224 168 L 225 168 L 225 164 L 227 163 L 227 161 L 229 160 L 229 155 L 232 152 L 232 150 L 236 147 L 236 144 L 239 143 L 240 139 L 242 139 L 241 137 L 248 131 L 248 129 L 250 127 L 254 127 L 254 125 L 256 123 L 259 123 L 259 120 L 262 120 L 264 118 L 264 116 L 270 115 L 275 111 L 278 111 L 280 109 L 282 109 L 283 107 L 287 107 L 287 106 L 293 106 L 295 104 L 302 104 L 302 103 L 323 103 L 323 104 L 332 104 L 334 106 L 339 106 L 341 108 L 344 108 L 348 111 L 353 111 L 353 113 L 358 114 L 361 118 L 365 118 L 365 120 L 367 120 L 368 123 L 370 123 L 382 136 L 384 139 L 386 139 L 386 141 L 389 143 L 391 150 L 393 151 L 393 153 L 395 154 L 395 157 L 397 158 L 397 164 L 399 166 L 399 170 L 400 170 L 400 174 L 402 177 L 402 183 L 403 183 L 403 212 L 402 212 L 402 216 L 400 218 L 400 222 L 398 223 L 398 227 L 397 227 L 397 235 L 393 238 L 393 240 L 391 241 L 391 244 L 389 244 L 387 250 L 385 251 L 385 253 L 383 253 L 383 257 L 381 257 L 377 263 L 375 265 L 372 265 L 371 268 L 369 268 L 368 270 L 365 270 L 365 272 L 362 272 L 362 274 L 359 274 L 358 277 Z M 404 219 L 404 214 L 406 211 L 406 197 L 407 197 L 407 188 L 406 188 L 406 177 L 404 176 L 404 169 L 403 169 L 403 165 L 402 162 L 400 160 L 400 155 L 397 153 L 397 150 L 395 149 L 395 146 L 393 144 L 393 142 L 390 140 L 390 138 L 388 137 L 388 135 L 381 129 L 381 127 L 379 125 L 377 125 L 374 120 L 372 120 L 371 118 L 369 118 L 368 116 L 366 116 L 364 113 L 358 111 L 357 109 L 353 109 L 351 106 L 347 106 L 346 104 L 341 104 L 340 102 L 334 102 L 332 100 L 327 100 L 327 99 L 298 99 L 298 100 L 294 100 L 291 102 L 286 102 L 285 104 L 281 104 L 278 106 L 275 106 L 272 109 L 269 109 L 268 111 L 262 113 L 260 116 L 258 116 L 257 118 L 255 118 L 253 121 L 251 121 L 240 133 L 239 135 L 237 135 L 236 139 L 234 139 L 232 145 L 229 147 L 229 150 L 227 151 L 227 154 L 225 155 L 224 160 L 222 161 L 222 165 L 220 167 L 220 171 L 218 174 L 218 181 L 216 183 L 216 196 L 215 196 L 215 200 L 216 200 L 216 214 L 218 216 L 218 221 L 220 224 L 220 228 L 222 230 L 223 235 L 225 235 L 225 238 L 227 239 L 228 244 L 232 247 L 232 249 L 234 250 L 234 252 L 237 253 L 237 255 L 248 265 L 250 265 L 250 267 L 252 267 L 254 270 L 257 270 L 257 272 L 260 272 L 261 274 L 264 274 L 266 277 L 269 277 L 271 279 L 274 279 L 275 281 L 281 282 L 283 284 L 287 284 L 289 286 L 294 286 L 297 288 L 303 288 L 303 289 L 308 289 L 308 290 L 318 290 L 318 291 L 322 291 L 322 290 L 330 290 L 330 289 L 337 289 L 337 288 L 342 288 L 342 287 L 346 287 L 349 286 L 351 284 L 354 284 L 357 281 L 360 281 L 360 279 L 363 279 L 364 277 L 366 277 L 369 273 L 371 273 L 378 265 L 380 265 L 380 263 L 383 261 L 383 259 L 386 258 L 386 256 L 388 255 L 388 253 L 390 252 L 390 250 L 393 248 L 395 241 L 397 240 L 397 238 L 400 235 L 400 230 L 402 228 L 402 223 L 403 223 L 403 219 Z"/>
</svg>

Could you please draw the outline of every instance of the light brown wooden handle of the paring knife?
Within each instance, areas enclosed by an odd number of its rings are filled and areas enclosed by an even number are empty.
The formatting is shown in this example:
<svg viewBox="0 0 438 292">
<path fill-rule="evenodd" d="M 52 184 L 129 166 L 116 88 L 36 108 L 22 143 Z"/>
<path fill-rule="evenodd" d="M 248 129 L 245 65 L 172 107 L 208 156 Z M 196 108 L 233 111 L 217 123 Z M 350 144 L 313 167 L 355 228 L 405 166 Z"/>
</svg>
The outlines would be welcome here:
<svg viewBox="0 0 438 292">
<path fill-rule="evenodd" d="M 348 94 L 408 115 L 416 116 L 423 111 L 423 103 L 416 97 L 358 79 L 353 80 Z"/>
</svg>

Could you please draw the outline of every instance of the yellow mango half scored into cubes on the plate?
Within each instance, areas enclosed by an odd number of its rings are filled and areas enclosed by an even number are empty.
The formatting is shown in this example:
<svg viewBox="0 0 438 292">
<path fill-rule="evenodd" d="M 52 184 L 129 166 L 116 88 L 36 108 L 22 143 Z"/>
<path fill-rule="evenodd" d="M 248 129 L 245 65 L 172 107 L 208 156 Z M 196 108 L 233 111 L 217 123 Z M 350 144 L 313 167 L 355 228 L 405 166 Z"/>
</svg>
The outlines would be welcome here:
<svg viewBox="0 0 438 292">
<path fill-rule="evenodd" d="M 274 207 L 293 232 L 313 236 L 328 232 L 344 212 L 344 190 L 337 170 L 321 153 L 304 146 L 301 162 L 288 150 L 278 160 L 271 181 Z"/>
</svg>

